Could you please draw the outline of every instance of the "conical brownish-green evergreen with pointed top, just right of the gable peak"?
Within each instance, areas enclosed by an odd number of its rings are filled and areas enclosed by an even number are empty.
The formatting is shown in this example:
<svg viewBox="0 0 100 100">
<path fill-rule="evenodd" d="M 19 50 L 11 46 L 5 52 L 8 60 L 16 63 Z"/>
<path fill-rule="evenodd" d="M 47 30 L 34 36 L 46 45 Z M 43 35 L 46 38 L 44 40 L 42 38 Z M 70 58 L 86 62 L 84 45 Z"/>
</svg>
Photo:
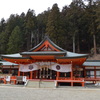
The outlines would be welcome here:
<svg viewBox="0 0 100 100">
<path fill-rule="evenodd" d="M 58 45 L 62 42 L 63 30 L 61 14 L 57 4 L 54 4 L 48 16 L 46 34 Z"/>
</svg>

